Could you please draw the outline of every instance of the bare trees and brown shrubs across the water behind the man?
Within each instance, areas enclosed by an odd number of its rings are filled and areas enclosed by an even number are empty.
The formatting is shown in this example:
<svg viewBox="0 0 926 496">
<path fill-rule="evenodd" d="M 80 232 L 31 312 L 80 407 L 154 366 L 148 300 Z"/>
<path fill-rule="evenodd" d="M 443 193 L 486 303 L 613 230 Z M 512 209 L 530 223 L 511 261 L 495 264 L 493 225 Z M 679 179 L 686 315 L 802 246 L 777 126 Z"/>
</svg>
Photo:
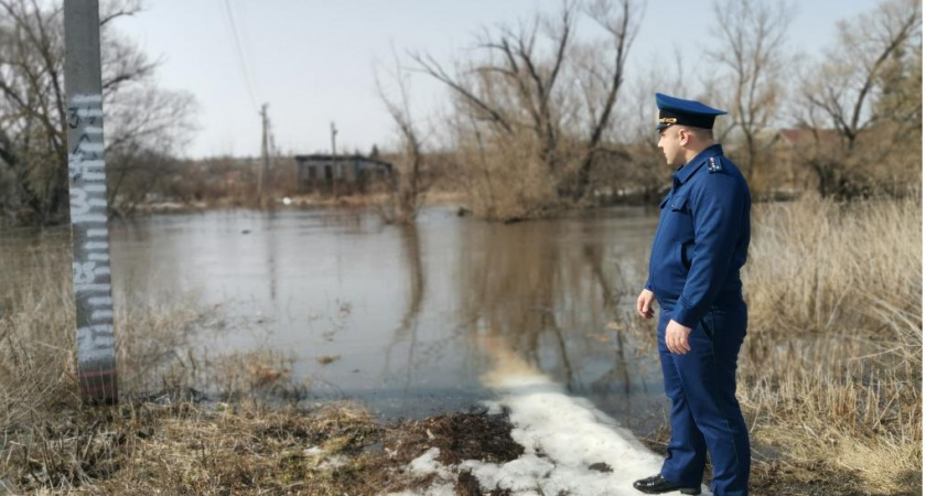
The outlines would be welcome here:
<svg viewBox="0 0 926 496">
<path fill-rule="evenodd" d="M 677 60 L 628 79 L 642 8 L 638 0 L 566 2 L 554 14 L 484 29 L 452 66 L 409 53 L 407 65 L 450 97 L 429 132 L 442 186 L 463 190 L 477 215 L 502 220 L 652 202 L 671 173 L 654 131 L 653 94 L 664 91 L 730 111 L 715 134 L 760 198 L 916 190 L 918 1 L 886 0 L 840 22 L 832 46 L 810 58 L 788 48 L 794 6 L 718 0 L 714 39 L 699 61 L 710 73 L 685 74 Z"/>
</svg>

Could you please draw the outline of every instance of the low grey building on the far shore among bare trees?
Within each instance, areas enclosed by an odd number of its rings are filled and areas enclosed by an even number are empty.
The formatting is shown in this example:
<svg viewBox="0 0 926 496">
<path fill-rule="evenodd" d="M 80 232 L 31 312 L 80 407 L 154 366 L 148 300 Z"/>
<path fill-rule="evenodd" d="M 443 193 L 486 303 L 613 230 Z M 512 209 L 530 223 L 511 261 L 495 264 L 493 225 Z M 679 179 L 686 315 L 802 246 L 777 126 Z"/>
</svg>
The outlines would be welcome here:
<svg viewBox="0 0 926 496">
<path fill-rule="evenodd" d="M 392 164 L 363 155 L 295 155 L 302 188 L 351 184 L 363 188 L 370 180 L 392 176 Z"/>
</svg>

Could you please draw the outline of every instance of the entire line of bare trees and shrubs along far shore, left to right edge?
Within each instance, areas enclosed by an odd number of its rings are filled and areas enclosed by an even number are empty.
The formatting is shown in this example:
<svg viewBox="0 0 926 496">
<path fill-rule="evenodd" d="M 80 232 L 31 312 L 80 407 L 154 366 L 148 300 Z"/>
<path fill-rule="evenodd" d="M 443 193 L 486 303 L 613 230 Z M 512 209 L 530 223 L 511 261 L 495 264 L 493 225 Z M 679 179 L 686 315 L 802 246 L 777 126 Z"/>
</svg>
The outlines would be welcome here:
<svg viewBox="0 0 926 496">
<path fill-rule="evenodd" d="M 714 131 L 758 198 L 805 191 L 837 198 L 903 195 L 920 183 L 917 0 L 884 0 L 840 22 L 819 57 L 789 48 L 794 6 L 717 0 L 717 29 L 699 61 L 710 72 L 694 74 L 680 55 L 628 73 L 643 8 L 642 0 L 568 1 L 552 13 L 486 26 L 453 64 L 427 52 L 397 55 L 395 69 L 377 80 L 396 125 L 396 145 L 386 154 L 399 173 L 387 187 L 394 200 L 384 217 L 412 222 L 429 188 L 463 192 L 476 215 L 498 220 L 653 203 L 671 173 L 656 148 L 655 91 L 730 111 Z M 252 174 L 230 165 L 237 161 L 175 159 L 194 130 L 196 105 L 186 93 L 158 87 L 157 63 L 114 29 L 114 20 L 139 11 L 138 2 L 115 0 L 101 9 L 114 214 L 128 215 L 152 197 L 247 198 L 240 182 Z M 67 218 L 63 68 L 62 3 L 0 0 L 4 222 Z M 448 89 L 439 115 L 412 115 L 414 74 Z M 211 175 L 223 168 L 232 169 Z M 289 185 L 278 188 L 281 194 L 298 193 L 291 174 L 277 175 Z"/>
</svg>

